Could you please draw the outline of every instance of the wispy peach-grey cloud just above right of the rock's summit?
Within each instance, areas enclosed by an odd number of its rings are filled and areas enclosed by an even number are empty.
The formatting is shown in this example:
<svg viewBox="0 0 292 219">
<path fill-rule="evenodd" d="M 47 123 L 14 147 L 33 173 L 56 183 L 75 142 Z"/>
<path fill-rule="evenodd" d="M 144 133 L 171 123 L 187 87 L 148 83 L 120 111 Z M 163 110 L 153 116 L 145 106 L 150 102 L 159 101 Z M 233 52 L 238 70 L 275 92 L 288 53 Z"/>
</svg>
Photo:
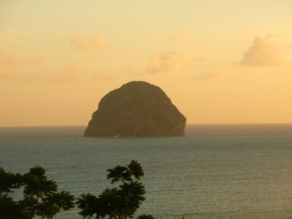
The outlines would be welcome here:
<svg viewBox="0 0 292 219">
<path fill-rule="evenodd" d="M 176 72 L 191 61 L 202 61 L 205 58 L 196 56 L 193 50 L 183 50 L 177 56 L 176 52 L 163 52 L 151 59 L 151 66 L 147 66 L 149 74 L 162 72 Z"/>
</svg>

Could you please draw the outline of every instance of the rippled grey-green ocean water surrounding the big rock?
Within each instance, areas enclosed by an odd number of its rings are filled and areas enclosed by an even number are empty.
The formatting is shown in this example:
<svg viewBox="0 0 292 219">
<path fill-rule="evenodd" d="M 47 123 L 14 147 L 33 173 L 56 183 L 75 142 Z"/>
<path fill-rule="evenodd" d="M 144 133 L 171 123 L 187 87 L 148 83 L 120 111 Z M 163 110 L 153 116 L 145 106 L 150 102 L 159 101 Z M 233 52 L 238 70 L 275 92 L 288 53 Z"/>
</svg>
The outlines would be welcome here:
<svg viewBox="0 0 292 219">
<path fill-rule="evenodd" d="M 79 197 L 111 187 L 106 170 L 134 159 L 147 192 L 136 216 L 292 218 L 292 124 L 187 125 L 186 136 L 144 138 L 83 137 L 85 128 L 0 127 L 0 166 L 23 174 L 39 164 Z"/>
</svg>

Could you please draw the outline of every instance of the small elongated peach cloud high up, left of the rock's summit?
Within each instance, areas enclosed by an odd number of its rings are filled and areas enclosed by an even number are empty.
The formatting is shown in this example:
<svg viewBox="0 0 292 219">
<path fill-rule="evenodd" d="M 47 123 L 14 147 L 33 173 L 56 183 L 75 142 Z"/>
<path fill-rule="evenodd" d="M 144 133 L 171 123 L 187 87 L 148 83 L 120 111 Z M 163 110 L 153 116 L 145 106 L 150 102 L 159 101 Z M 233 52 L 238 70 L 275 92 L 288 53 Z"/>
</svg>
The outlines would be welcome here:
<svg viewBox="0 0 292 219">
<path fill-rule="evenodd" d="M 71 39 L 71 44 L 76 51 L 94 50 L 108 46 L 107 37 L 90 36 L 84 38 L 74 37 Z"/>
</svg>

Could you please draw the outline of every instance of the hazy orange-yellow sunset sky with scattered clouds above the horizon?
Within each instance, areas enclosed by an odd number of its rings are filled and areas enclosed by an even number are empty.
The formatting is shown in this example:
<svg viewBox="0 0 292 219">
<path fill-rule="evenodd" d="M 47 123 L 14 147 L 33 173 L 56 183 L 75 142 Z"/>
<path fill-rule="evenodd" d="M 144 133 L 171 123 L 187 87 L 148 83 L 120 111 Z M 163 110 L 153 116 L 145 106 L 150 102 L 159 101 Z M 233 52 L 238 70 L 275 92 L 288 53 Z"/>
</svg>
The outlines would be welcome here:
<svg viewBox="0 0 292 219">
<path fill-rule="evenodd" d="M 0 126 L 87 125 L 133 80 L 187 124 L 292 123 L 292 1 L 0 1 Z"/>
</svg>

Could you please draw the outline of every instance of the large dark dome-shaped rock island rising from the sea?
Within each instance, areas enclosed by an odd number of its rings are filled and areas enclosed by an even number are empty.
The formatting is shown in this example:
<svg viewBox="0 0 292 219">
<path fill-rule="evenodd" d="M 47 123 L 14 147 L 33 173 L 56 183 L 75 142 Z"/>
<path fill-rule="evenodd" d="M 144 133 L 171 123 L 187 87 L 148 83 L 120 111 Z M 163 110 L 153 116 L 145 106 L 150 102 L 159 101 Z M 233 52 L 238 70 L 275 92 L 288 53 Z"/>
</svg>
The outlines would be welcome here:
<svg viewBox="0 0 292 219">
<path fill-rule="evenodd" d="M 131 81 L 100 100 L 84 136 L 178 136 L 185 122 L 161 88 Z"/>
</svg>

